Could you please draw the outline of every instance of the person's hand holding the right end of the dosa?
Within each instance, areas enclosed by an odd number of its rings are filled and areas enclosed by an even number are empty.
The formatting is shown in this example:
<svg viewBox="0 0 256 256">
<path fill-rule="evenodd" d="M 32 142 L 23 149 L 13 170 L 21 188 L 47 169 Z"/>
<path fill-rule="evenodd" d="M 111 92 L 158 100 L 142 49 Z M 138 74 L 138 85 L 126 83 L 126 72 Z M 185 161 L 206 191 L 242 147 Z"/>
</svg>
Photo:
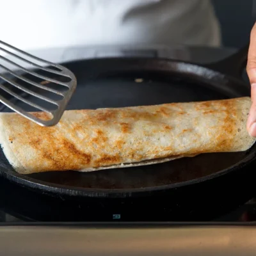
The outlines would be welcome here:
<svg viewBox="0 0 256 256">
<path fill-rule="evenodd" d="M 247 130 L 251 136 L 256 138 L 256 23 L 251 31 L 246 71 L 251 84 L 252 98 L 252 107 L 247 120 Z"/>
</svg>

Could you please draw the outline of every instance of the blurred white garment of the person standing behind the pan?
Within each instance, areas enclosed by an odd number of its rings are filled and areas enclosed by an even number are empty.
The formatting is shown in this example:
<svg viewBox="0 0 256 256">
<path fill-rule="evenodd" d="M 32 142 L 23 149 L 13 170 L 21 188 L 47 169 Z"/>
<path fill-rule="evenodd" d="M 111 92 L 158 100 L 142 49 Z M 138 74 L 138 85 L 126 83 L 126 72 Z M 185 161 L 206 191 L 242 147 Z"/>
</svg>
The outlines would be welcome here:
<svg viewBox="0 0 256 256">
<path fill-rule="evenodd" d="M 209 0 L 0 0 L 0 9 L 0 40 L 29 52 L 86 45 L 221 44 Z"/>
</svg>

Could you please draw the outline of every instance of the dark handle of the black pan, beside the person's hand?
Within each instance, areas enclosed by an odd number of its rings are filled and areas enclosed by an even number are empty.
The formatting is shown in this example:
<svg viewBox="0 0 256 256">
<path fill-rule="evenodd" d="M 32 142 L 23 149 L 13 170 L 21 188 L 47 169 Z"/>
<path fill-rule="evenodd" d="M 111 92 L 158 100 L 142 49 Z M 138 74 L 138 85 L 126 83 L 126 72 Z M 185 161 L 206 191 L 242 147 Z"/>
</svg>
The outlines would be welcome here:
<svg viewBox="0 0 256 256">
<path fill-rule="evenodd" d="M 219 71 L 228 76 L 241 79 L 243 70 L 246 67 L 249 44 L 239 49 L 237 52 L 228 56 L 224 60 L 216 61 L 204 65 L 204 67 Z"/>
</svg>

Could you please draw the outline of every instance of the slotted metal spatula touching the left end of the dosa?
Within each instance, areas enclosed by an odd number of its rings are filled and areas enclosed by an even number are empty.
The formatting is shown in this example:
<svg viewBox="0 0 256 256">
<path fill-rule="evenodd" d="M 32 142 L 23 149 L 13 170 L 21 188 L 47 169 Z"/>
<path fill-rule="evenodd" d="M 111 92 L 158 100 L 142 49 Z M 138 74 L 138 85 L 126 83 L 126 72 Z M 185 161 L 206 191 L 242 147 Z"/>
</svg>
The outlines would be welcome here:
<svg viewBox="0 0 256 256">
<path fill-rule="evenodd" d="M 8 55 L 8 58 L 6 58 L 5 55 Z M 10 57 L 15 60 L 10 60 Z M 33 69 L 19 65 L 17 63 L 19 61 L 22 61 L 22 63 L 25 63 L 27 66 L 30 65 Z M 7 67 L 8 65 L 6 66 L 5 64 L 12 65 L 13 68 L 9 68 Z M 2 41 L 0 41 L 0 68 L 4 70 L 4 73 L 0 72 L 0 79 L 3 79 L 3 82 L 0 82 L 0 102 L 42 126 L 56 125 L 60 121 L 77 84 L 76 77 L 70 70 L 61 65 L 37 58 Z M 19 74 L 17 70 L 22 70 L 22 74 Z M 28 74 L 29 78 L 26 76 Z M 58 79 L 56 79 L 56 75 Z M 35 81 L 36 79 L 40 79 L 44 83 L 38 83 L 38 81 Z M 49 84 L 53 84 L 53 86 L 49 86 Z M 11 88 L 15 90 L 11 90 Z M 16 100 L 22 101 L 35 108 L 36 111 L 41 110 L 50 113 L 52 117 L 51 120 L 42 120 L 35 115 L 31 115 L 28 111 L 25 111 L 23 108 L 13 103 L 13 100 L 6 99 L 8 97 L 3 96 L 3 93 L 1 93 L 3 91 L 4 94 L 8 93 L 8 95 L 12 95 L 12 99 L 14 97 Z M 53 93 L 61 99 L 56 100 L 51 97 L 46 97 L 44 95 L 45 91 Z M 24 94 L 36 97 L 56 107 L 53 110 L 51 108 L 45 108 L 42 104 L 40 105 L 32 100 L 26 99 L 23 97 Z"/>
</svg>

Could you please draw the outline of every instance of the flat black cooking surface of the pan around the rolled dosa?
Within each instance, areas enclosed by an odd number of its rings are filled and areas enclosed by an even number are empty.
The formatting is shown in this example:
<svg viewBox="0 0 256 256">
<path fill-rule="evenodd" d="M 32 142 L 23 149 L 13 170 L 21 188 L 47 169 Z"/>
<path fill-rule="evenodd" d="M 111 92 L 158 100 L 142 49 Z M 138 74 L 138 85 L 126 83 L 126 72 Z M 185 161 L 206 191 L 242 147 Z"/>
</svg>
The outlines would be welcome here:
<svg viewBox="0 0 256 256">
<path fill-rule="evenodd" d="M 125 72 L 99 74 L 100 60 L 92 67 L 86 61 L 66 65 L 76 74 L 77 89 L 67 109 L 95 109 L 125 106 L 227 99 L 236 97 L 234 92 L 224 94 L 207 83 L 198 83 L 192 77 L 161 72 Z M 102 67 L 100 67 L 102 70 Z M 104 69 L 104 68 L 103 68 Z M 51 84 L 49 84 L 51 86 Z M 53 85 L 52 85 L 53 86 Z M 241 93 L 243 94 L 243 93 Z M 46 95 L 46 93 L 45 93 Z M 29 96 L 28 96 L 29 97 Z M 17 102 L 26 111 L 34 109 Z M 10 111 L 4 108 L 3 111 Z M 28 175 L 36 183 L 49 182 L 54 186 L 72 188 L 129 189 L 149 188 L 197 179 L 216 173 L 238 163 L 248 153 L 202 154 L 192 158 L 177 159 L 168 163 L 134 168 L 102 170 L 90 173 L 45 172 Z M 1 170 L 10 172 L 10 164 L 1 152 Z"/>
</svg>

